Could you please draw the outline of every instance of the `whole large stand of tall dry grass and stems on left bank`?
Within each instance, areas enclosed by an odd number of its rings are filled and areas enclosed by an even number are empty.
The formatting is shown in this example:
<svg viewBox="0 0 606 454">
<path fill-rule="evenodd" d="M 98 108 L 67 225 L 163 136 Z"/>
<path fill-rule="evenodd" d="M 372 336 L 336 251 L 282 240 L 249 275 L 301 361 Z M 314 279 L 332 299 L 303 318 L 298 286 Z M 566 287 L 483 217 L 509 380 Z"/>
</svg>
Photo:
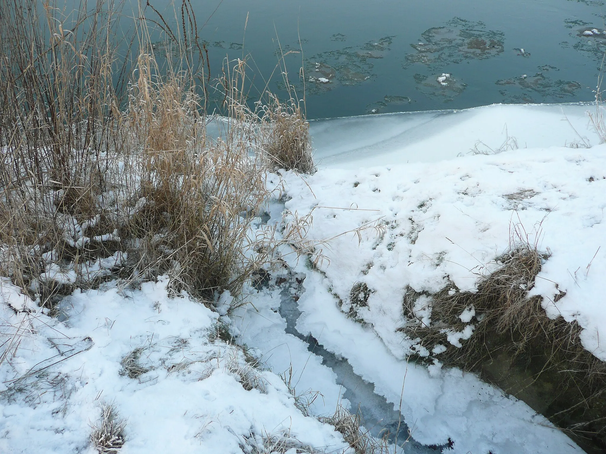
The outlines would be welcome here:
<svg viewBox="0 0 606 454">
<path fill-rule="evenodd" d="M 114 10 L 84 2 L 68 20 L 26 1 L 0 0 L 0 273 L 49 308 L 76 287 L 162 274 L 176 292 L 238 295 L 268 260 L 248 238 L 267 191 L 241 91 L 226 88 L 228 128 L 211 140 L 201 74 L 143 52 L 126 84 Z"/>
</svg>

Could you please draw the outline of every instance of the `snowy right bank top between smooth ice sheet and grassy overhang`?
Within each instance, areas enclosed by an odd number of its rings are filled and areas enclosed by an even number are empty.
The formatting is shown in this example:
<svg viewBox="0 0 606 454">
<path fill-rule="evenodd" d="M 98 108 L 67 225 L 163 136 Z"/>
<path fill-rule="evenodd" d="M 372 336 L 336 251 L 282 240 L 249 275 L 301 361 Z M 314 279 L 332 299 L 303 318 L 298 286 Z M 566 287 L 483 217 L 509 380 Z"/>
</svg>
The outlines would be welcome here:
<svg viewBox="0 0 606 454">
<path fill-rule="evenodd" d="M 289 178 L 293 200 L 287 208 L 302 214 L 317 207 L 309 233 L 315 239 L 373 219 L 385 226 L 377 238 L 367 232 L 359 246 L 352 235 L 333 240 L 322 250 L 328 260 L 320 268 L 345 311 L 355 283 L 367 284 L 368 307 L 359 308 L 358 316 L 396 357 L 411 347 L 397 334 L 405 321 L 405 288 L 433 293 L 450 280 L 472 289 L 479 274 L 496 269 L 494 258 L 515 240 L 517 228 L 539 249 L 551 251 L 533 294 L 542 295 L 550 317 L 577 320 L 585 348 L 606 360 L 599 343 L 599 332 L 606 331 L 600 298 L 606 271 L 606 250 L 600 248 L 606 237 L 605 151 L 606 145 L 518 150 L 431 164 L 330 169 L 305 182 Z"/>
</svg>

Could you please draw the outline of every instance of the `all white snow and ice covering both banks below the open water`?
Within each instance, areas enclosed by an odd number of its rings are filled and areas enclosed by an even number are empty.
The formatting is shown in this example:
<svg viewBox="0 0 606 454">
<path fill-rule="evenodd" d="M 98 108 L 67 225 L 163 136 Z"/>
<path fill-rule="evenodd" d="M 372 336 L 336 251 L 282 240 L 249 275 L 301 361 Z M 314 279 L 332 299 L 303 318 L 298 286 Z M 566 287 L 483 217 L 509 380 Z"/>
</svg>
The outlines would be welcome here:
<svg viewBox="0 0 606 454">
<path fill-rule="evenodd" d="M 108 283 L 76 291 L 52 318 L 4 278 L 0 452 L 93 454 L 88 436 L 103 403 L 127 421 L 124 454 L 250 452 L 265 435 L 353 452 L 315 416 L 338 404 L 355 410 L 347 386 L 361 381 L 401 410 L 416 441 L 452 441 L 446 452 L 582 452 L 527 404 L 476 375 L 407 361 L 413 351 L 428 357 L 461 347 L 473 337 L 473 306 L 459 315 L 467 326 L 445 330 L 447 341 L 431 351 L 398 329 L 407 288 L 422 293 L 413 312 L 429 324 L 427 294 L 473 291 L 512 241 L 527 241 L 550 253 L 532 294 L 542 296 L 549 317 L 576 320 L 584 347 L 606 360 L 599 339 L 606 330 L 606 145 L 588 120 L 592 109 L 493 105 L 311 122 L 319 169 L 271 176 L 285 197 L 267 210 L 275 226 L 284 208 L 287 222 L 311 212 L 307 237 L 318 240 L 318 269 L 282 245 L 284 269 L 271 270 L 266 288 L 246 287 L 250 304 L 237 309 L 228 292 L 212 308 L 185 293 L 169 295 L 159 277 L 139 290 Z M 85 237 L 95 218 L 59 221 L 75 247 L 119 240 L 118 232 Z M 68 285 L 110 274 L 127 258 L 118 252 L 69 269 L 55 255 L 45 256 L 42 279 Z M 282 277 L 296 290 L 280 287 Z M 368 286 L 368 300 L 358 294 L 350 301 L 359 283 Z M 301 312 L 294 327 L 284 318 L 284 292 Z M 347 316 L 353 306 L 358 321 Z M 219 325 L 230 326 L 246 349 L 217 339 Z M 346 360 L 355 377 L 343 380 L 335 361 L 310 352 L 307 335 Z M 133 352 L 142 373 L 129 378 L 121 362 Z M 248 355 L 263 367 L 251 366 Z M 309 415 L 278 374 L 290 374 L 297 395 L 321 393 Z"/>
</svg>

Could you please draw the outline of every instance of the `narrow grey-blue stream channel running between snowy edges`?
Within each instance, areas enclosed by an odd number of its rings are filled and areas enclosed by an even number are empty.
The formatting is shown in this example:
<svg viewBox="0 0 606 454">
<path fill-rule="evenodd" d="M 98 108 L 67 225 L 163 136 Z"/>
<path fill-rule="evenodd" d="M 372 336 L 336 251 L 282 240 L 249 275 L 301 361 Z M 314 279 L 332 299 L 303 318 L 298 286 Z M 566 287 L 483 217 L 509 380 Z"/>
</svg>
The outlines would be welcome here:
<svg viewBox="0 0 606 454">
<path fill-rule="evenodd" d="M 307 349 L 322 358 L 322 364 L 329 367 L 337 375 L 337 383 L 344 387 L 343 397 L 350 401 L 351 410 L 357 408 L 362 425 L 372 436 L 387 439 L 390 444 L 397 444 L 398 453 L 404 454 L 436 454 L 441 453 L 448 444 L 441 446 L 426 446 L 415 441 L 409 433 L 409 427 L 393 404 L 383 396 L 375 393 L 375 385 L 368 383 L 353 371 L 353 367 L 345 358 L 339 357 L 322 346 L 312 335 L 302 335 L 296 329 L 296 323 L 301 316 L 299 305 L 290 294 L 288 288 L 281 292 L 279 314 L 286 320 L 286 332 L 301 339 L 307 344 Z M 388 371 L 386 371 L 387 373 Z"/>
</svg>

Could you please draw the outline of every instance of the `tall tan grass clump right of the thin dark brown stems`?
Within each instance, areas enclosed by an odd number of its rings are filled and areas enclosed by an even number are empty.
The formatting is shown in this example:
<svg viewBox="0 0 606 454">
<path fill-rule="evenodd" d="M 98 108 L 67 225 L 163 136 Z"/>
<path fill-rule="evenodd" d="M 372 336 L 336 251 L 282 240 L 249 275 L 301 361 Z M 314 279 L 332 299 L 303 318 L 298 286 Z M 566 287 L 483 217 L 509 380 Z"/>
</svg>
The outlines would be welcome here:
<svg viewBox="0 0 606 454">
<path fill-rule="evenodd" d="M 136 270 L 148 278 L 168 271 L 173 281 L 207 297 L 222 289 L 237 295 L 258 269 L 247 235 L 267 197 L 262 163 L 249 156 L 238 124 L 225 140 L 204 136 L 184 81 L 142 90 L 153 87 L 148 77 L 134 90 L 128 115 L 136 141 L 147 145 L 137 194 L 145 204 L 129 225 L 142 240 L 133 245 Z"/>
</svg>

